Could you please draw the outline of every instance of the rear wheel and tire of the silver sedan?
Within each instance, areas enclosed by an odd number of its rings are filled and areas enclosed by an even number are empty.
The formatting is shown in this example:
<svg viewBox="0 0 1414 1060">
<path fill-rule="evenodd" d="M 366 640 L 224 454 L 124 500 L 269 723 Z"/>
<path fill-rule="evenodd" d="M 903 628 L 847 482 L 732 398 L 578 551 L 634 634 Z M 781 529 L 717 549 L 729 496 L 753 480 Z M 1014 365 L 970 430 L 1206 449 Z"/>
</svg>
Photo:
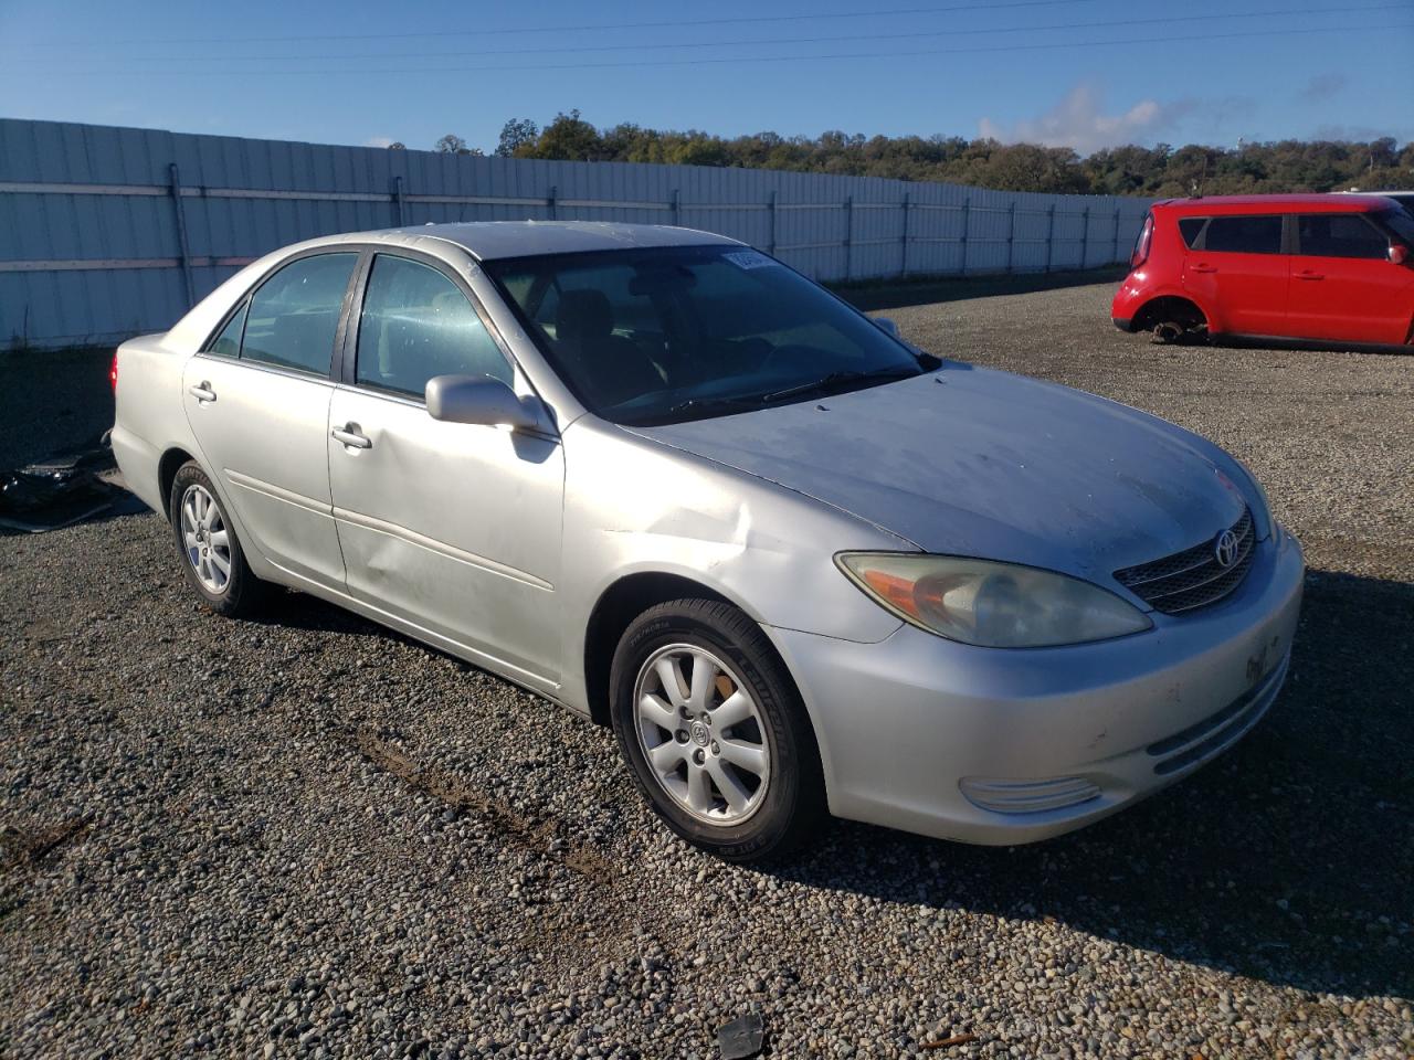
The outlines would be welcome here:
<svg viewBox="0 0 1414 1060">
<path fill-rule="evenodd" d="M 267 587 L 250 572 L 216 490 L 195 461 L 178 468 L 167 516 L 187 582 L 201 601 L 226 618 L 255 613 Z"/>
</svg>

